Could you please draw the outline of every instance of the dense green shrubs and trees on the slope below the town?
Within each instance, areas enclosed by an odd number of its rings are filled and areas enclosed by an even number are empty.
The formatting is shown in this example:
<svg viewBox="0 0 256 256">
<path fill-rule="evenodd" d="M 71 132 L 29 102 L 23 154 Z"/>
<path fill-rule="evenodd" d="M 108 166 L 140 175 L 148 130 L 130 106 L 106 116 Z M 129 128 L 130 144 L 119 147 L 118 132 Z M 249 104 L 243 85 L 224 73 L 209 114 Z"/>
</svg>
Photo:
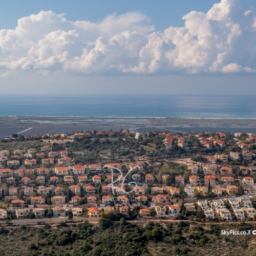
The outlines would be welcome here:
<svg viewBox="0 0 256 256">
<path fill-rule="evenodd" d="M 253 226 L 254 225 L 254 226 Z M 221 230 L 253 230 L 255 224 L 186 222 L 127 223 L 101 219 L 99 225 L 60 223 L 0 228 L 1 255 L 150 256 L 255 255 L 254 236 L 222 236 Z"/>
</svg>

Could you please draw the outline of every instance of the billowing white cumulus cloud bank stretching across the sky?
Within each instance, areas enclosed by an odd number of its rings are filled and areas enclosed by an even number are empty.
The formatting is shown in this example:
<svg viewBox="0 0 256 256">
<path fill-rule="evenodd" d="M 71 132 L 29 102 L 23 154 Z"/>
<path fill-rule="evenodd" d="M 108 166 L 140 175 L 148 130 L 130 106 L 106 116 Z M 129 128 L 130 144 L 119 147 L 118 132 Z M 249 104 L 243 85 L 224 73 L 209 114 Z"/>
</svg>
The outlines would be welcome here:
<svg viewBox="0 0 256 256">
<path fill-rule="evenodd" d="M 256 18 L 238 0 L 222 0 L 207 13 L 191 11 L 184 27 L 156 32 L 139 12 L 100 23 L 70 22 L 41 11 L 0 30 L 0 69 L 43 75 L 255 73 Z"/>
</svg>

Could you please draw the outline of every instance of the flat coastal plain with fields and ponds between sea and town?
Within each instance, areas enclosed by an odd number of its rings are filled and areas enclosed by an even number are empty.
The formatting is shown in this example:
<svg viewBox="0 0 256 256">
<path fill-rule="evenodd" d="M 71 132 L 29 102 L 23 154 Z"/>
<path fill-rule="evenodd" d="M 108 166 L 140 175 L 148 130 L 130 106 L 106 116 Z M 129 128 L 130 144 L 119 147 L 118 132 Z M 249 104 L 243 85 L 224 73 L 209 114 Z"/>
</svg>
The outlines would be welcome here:
<svg viewBox="0 0 256 256">
<path fill-rule="evenodd" d="M 158 118 L 158 117 L 49 117 L 2 116 L 0 138 L 13 133 L 33 134 L 72 133 L 73 131 L 137 132 L 170 131 L 174 133 L 224 132 L 256 133 L 254 118 Z"/>
</svg>

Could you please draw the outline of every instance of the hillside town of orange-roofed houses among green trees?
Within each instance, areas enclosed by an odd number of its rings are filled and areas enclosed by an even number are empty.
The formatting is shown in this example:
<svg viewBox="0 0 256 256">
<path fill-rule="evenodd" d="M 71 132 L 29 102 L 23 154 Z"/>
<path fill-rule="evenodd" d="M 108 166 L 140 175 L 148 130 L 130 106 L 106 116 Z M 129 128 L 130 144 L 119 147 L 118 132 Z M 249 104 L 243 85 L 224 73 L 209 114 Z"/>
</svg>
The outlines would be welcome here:
<svg viewBox="0 0 256 256">
<path fill-rule="evenodd" d="M 0 219 L 254 220 L 254 136 L 13 134 L 0 145 Z"/>
</svg>

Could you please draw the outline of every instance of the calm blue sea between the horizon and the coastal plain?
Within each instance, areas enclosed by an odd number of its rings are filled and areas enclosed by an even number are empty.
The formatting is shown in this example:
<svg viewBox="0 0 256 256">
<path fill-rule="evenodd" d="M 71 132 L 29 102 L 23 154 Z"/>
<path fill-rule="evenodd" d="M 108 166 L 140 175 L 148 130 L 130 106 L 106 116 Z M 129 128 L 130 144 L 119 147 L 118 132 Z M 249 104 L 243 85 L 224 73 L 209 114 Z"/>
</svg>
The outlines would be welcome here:
<svg viewBox="0 0 256 256">
<path fill-rule="evenodd" d="M 0 95 L 0 116 L 256 118 L 254 95 Z"/>
</svg>

